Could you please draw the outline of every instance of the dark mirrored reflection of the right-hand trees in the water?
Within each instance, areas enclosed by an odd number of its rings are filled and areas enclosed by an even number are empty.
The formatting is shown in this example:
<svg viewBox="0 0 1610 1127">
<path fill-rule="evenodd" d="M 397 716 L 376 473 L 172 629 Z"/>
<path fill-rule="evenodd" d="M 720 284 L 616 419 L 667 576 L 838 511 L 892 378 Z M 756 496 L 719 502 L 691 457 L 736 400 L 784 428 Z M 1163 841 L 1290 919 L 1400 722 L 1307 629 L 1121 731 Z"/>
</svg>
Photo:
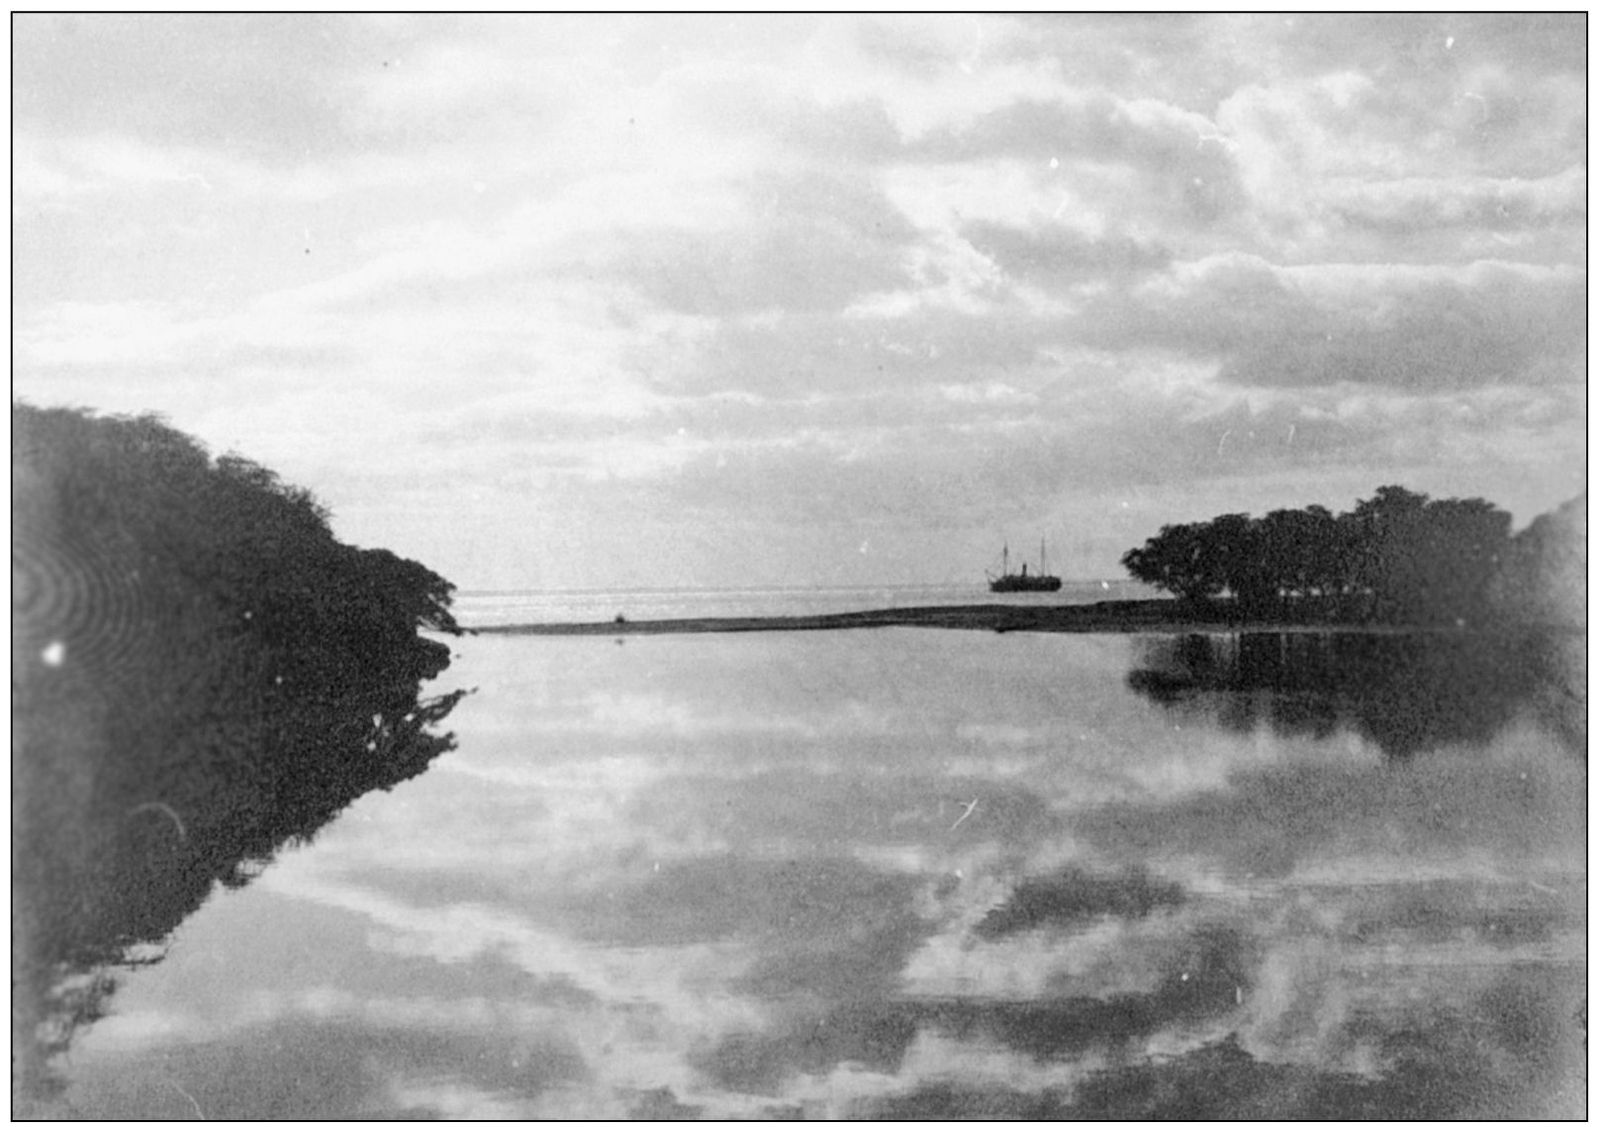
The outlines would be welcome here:
<svg viewBox="0 0 1610 1127">
<path fill-rule="evenodd" d="M 1539 694 L 1541 633 L 1241 633 L 1141 642 L 1129 684 L 1232 731 L 1290 736 L 1351 726 L 1388 755 L 1481 744 Z M 1549 715 L 1568 742 L 1586 731 Z"/>
</svg>

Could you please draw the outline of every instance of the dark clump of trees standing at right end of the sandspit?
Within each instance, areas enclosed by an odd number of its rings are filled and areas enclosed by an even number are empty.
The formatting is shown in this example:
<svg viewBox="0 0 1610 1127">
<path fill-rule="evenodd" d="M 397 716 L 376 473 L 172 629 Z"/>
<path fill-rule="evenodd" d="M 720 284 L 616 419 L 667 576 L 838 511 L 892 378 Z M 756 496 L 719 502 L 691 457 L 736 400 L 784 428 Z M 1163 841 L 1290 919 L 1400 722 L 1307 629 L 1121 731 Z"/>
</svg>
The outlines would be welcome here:
<svg viewBox="0 0 1610 1127">
<path fill-rule="evenodd" d="M 1385 485 L 1349 512 L 1323 506 L 1164 525 L 1124 554 L 1129 573 L 1195 613 L 1457 623 L 1494 609 L 1509 512 Z"/>
</svg>

